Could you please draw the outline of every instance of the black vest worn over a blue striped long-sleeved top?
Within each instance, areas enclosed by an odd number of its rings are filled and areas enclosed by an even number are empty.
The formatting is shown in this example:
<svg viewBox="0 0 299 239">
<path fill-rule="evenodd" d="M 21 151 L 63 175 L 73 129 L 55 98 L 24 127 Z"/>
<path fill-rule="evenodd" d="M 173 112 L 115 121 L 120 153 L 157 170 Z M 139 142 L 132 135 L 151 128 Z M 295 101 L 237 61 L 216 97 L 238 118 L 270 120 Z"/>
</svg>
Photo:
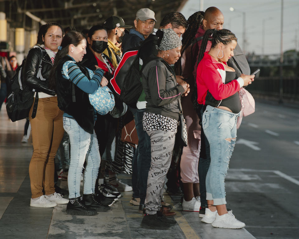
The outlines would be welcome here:
<svg viewBox="0 0 299 239">
<path fill-rule="evenodd" d="M 73 61 L 73 59 L 69 56 L 60 59 L 55 71 L 58 107 L 60 110 L 73 116 L 82 129 L 89 134 L 93 134 L 94 109 L 89 102 L 88 93 L 82 91 L 73 82 L 62 76 L 61 69 L 67 61 Z M 87 69 L 80 64 L 77 65 L 90 80 Z"/>
</svg>

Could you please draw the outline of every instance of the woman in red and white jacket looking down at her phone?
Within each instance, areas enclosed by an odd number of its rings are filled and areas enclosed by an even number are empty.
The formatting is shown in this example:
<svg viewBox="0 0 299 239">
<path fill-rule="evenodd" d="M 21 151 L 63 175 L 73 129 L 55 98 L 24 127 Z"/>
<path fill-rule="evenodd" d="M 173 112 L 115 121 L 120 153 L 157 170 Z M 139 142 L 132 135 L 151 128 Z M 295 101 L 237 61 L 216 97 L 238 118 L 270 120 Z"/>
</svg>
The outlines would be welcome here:
<svg viewBox="0 0 299 239">
<path fill-rule="evenodd" d="M 209 35 L 211 50 L 205 52 Z M 204 105 L 202 128 L 210 145 L 211 164 L 206 175 L 208 208 L 202 218 L 213 227 L 242 228 L 244 223 L 226 209 L 224 179 L 236 142 L 236 123 L 241 111 L 238 91 L 254 81 L 229 66 L 237 38 L 230 30 L 207 30 L 202 39 L 197 67 L 197 101 Z"/>
</svg>

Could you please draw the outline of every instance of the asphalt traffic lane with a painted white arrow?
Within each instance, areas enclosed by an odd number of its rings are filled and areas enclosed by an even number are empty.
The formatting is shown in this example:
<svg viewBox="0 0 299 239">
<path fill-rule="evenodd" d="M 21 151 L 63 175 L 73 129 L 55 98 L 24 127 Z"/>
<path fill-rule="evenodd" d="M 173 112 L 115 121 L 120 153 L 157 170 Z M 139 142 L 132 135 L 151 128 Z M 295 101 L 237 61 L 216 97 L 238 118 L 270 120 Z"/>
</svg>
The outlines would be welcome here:
<svg viewBox="0 0 299 239">
<path fill-rule="evenodd" d="M 298 155 L 299 146 L 291 140 L 243 124 L 237 132 L 230 167 L 280 170 L 289 176 L 299 176 Z"/>
</svg>

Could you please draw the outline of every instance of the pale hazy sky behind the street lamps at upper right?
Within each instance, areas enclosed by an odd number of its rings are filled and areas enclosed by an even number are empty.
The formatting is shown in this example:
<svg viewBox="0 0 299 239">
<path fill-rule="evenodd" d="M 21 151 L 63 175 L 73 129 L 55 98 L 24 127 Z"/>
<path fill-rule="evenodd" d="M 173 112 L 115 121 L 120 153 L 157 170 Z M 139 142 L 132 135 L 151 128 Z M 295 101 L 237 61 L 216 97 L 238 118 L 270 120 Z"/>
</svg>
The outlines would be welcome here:
<svg viewBox="0 0 299 239">
<path fill-rule="evenodd" d="M 224 28 L 231 30 L 243 48 L 243 12 L 245 12 L 246 52 L 279 54 L 282 0 L 202 0 L 203 11 L 218 7 L 224 15 Z M 235 10 L 230 11 L 230 7 Z M 181 12 L 188 19 L 200 10 L 200 0 L 188 0 Z M 264 31 L 263 29 L 264 25 Z M 264 33 L 263 33 L 264 32 Z M 264 44 L 263 44 L 264 35 Z M 299 0 L 283 0 L 283 51 L 299 51 Z M 263 50 L 264 49 L 264 50 Z"/>
</svg>

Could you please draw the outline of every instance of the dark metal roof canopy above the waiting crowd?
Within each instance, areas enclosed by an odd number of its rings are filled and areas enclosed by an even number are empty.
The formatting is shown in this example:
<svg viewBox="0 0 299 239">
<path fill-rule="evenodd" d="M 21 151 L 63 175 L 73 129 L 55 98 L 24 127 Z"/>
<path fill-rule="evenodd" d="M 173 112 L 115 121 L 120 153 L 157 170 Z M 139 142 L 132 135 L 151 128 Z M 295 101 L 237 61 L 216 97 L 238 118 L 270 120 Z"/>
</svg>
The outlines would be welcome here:
<svg viewBox="0 0 299 239">
<path fill-rule="evenodd" d="M 150 8 L 155 12 L 155 27 L 159 28 L 162 18 L 169 12 L 179 11 L 185 2 L 187 0 L 0 0 L 0 12 L 6 13 L 10 27 L 38 30 L 36 21 L 40 24 L 55 21 L 64 28 L 74 26 L 83 30 L 102 24 L 112 15 L 122 17 L 126 24 L 133 26 L 136 12 Z"/>
</svg>

